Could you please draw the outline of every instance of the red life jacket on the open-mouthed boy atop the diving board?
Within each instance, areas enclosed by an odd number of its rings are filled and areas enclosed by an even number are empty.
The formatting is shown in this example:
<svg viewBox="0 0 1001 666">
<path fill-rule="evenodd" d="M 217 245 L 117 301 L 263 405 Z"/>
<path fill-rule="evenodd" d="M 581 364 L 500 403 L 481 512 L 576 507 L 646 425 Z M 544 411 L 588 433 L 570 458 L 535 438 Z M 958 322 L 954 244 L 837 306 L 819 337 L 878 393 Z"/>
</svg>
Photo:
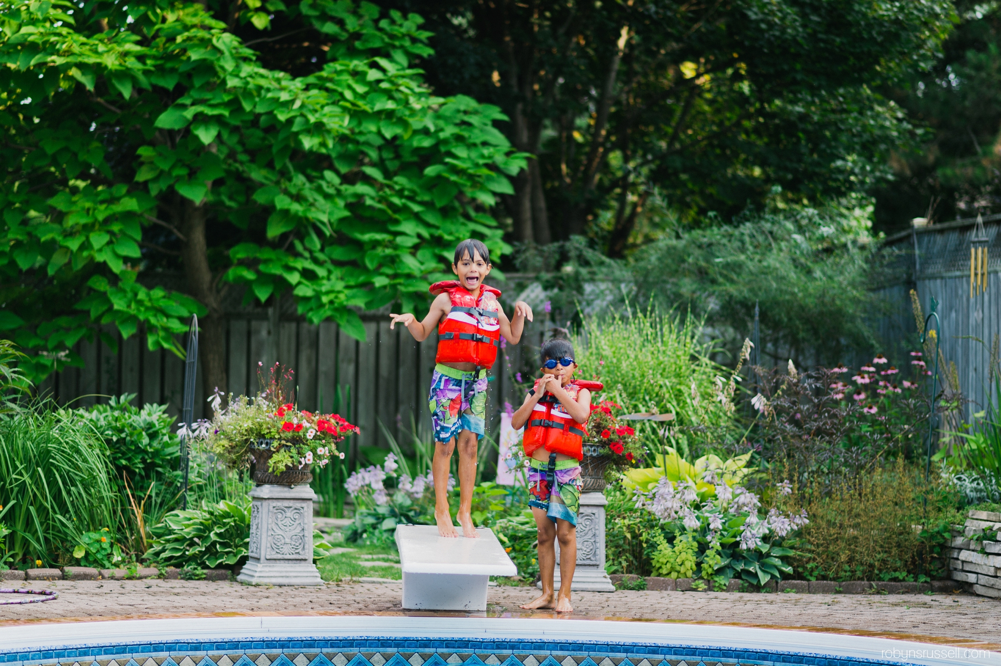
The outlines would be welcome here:
<svg viewBox="0 0 1001 666">
<path fill-rule="evenodd" d="M 492 367 L 500 346 L 500 320 L 497 318 L 500 291 L 484 284 L 479 287 L 479 298 L 473 298 L 457 280 L 435 282 L 429 291 L 435 296 L 447 293 L 451 300 L 448 316 L 438 324 L 434 362 Z"/>
</svg>

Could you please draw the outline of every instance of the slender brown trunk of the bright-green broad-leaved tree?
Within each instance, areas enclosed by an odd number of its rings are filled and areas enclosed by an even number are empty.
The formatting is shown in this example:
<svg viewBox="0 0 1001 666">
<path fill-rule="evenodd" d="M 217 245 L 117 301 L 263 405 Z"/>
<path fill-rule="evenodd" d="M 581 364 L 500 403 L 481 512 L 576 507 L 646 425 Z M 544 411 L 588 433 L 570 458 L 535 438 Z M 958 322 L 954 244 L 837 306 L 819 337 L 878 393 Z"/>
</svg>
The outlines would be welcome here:
<svg viewBox="0 0 1001 666">
<path fill-rule="evenodd" d="M 187 274 L 188 291 L 201 302 L 208 313 L 198 323 L 198 356 L 201 361 L 201 379 L 205 396 L 218 389 L 226 392 L 226 318 L 222 299 L 216 289 L 212 270 L 208 265 L 208 246 L 205 241 L 204 206 L 185 199 L 181 228 L 186 242 L 182 258 Z"/>
</svg>

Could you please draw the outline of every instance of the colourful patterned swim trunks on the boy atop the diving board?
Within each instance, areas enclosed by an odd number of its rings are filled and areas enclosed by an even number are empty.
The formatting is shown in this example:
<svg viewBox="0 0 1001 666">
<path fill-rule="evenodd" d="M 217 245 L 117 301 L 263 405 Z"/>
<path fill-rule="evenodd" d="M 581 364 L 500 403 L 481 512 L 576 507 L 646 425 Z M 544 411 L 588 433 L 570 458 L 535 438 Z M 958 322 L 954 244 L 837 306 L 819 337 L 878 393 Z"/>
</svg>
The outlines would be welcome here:
<svg viewBox="0 0 1001 666">
<path fill-rule="evenodd" d="M 447 442 L 460 430 L 482 437 L 486 416 L 486 370 L 462 372 L 438 363 L 427 394 L 434 441 Z"/>
</svg>

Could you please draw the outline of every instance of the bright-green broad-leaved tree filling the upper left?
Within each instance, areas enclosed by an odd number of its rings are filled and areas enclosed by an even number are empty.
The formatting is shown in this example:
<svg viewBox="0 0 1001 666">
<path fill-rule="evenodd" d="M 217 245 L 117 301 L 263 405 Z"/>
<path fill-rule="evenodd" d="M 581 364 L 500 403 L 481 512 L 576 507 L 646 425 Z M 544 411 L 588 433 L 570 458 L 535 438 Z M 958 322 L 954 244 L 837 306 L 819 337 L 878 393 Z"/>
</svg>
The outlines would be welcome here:
<svg viewBox="0 0 1001 666">
<path fill-rule="evenodd" d="M 318 36 L 321 58 L 262 63 L 240 34 L 266 50 L 272 16 Z M 106 324 L 179 352 L 198 312 L 205 387 L 224 390 L 229 285 L 260 301 L 291 289 L 310 322 L 361 338 L 352 308 L 422 298 L 455 240 L 504 249 L 488 210 L 524 159 L 496 107 L 421 83 L 417 17 L 43 0 L 0 20 L 0 329 L 35 378 Z M 157 268 L 181 269 L 183 293 Z"/>
</svg>

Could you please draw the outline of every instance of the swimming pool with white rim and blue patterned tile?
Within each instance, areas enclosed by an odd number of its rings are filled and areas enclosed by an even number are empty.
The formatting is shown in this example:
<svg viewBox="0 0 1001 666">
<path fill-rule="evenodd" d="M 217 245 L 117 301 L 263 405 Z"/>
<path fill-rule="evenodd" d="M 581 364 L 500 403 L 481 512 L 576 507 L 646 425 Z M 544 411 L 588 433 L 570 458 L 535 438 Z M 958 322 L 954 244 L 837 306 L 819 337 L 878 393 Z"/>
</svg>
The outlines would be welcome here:
<svg viewBox="0 0 1001 666">
<path fill-rule="evenodd" d="M 184 617 L 0 628 L 12 666 L 733 666 L 976 664 L 1001 655 L 806 631 L 604 620 Z"/>
</svg>

